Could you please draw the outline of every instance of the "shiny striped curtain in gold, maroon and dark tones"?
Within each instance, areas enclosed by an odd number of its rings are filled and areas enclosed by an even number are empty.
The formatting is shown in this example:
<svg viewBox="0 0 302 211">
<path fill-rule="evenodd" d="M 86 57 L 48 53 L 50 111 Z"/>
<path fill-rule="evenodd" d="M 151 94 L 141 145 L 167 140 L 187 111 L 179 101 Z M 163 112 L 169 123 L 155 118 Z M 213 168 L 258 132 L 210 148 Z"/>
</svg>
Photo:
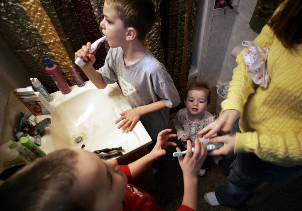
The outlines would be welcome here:
<svg viewBox="0 0 302 211">
<path fill-rule="evenodd" d="M 190 64 L 198 1 L 153 0 L 157 21 L 143 44 L 165 64 L 183 99 Z M 0 37 L 24 69 L 50 92 L 58 91 L 45 70 L 44 58 L 56 64 L 69 85 L 76 85 L 67 61 L 102 36 L 104 0 L 0 0 Z M 95 54 L 95 69 L 104 65 L 108 46 Z M 80 68 L 79 68 L 80 70 Z M 85 81 L 87 76 L 80 70 Z"/>
</svg>

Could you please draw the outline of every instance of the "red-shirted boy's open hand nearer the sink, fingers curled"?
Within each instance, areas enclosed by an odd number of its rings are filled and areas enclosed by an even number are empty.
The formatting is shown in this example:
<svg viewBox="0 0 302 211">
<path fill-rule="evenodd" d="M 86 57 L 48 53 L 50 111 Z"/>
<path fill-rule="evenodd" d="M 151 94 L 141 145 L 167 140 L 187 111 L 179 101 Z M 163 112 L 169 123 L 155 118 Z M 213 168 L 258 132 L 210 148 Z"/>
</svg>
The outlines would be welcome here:
<svg viewBox="0 0 302 211">
<path fill-rule="evenodd" d="M 175 142 L 167 142 L 170 138 L 172 137 L 177 137 L 176 134 L 168 134 L 172 131 L 172 129 L 165 129 L 159 132 L 158 136 L 157 136 L 157 141 L 156 144 L 154 146 L 154 148 L 152 149 L 152 151 L 150 152 L 150 154 L 152 154 L 154 156 L 154 158 L 158 159 L 160 158 L 162 155 L 166 154 L 166 150 L 168 146 L 177 146 L 177 144 Z M 166 136 L 165 136 L 166 135 Z"/>
</svg>

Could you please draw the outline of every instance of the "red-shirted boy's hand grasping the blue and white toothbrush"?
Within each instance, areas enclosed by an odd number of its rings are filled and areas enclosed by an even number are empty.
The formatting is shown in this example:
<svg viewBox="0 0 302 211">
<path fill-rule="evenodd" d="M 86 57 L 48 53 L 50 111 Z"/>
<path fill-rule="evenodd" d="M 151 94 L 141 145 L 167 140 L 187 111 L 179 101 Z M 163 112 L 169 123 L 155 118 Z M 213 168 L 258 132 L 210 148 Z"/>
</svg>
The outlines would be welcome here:
<svg viewBox="0 0 302 211">
<path fill-rule="evenodd" d="M 180 149 L 176 148 L 177 152 L 180 152 Z M 194 153 L 192 153 L 192 144 L 191 141 L 187 141 L 187 153 L 186 156 L 179 156 L 178 162 L 182 168 L 182 172 L 185 176 L 188 177 L 197 177 L 198 171 L 201 168 L 204 160 L 207 157 L 207 149 L 200 141 L 195 142 Z"/>
</svg>

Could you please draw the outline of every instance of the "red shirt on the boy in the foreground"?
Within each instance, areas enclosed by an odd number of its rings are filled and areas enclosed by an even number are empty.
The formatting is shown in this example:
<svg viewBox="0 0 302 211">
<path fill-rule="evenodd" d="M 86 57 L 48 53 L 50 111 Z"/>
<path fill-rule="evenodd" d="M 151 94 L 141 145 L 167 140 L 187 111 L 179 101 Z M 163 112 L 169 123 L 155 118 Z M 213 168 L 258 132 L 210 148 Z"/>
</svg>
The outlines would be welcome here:
<svg viewBox="0 0 302 211">
<path fill-rule="evenodd" d="M 128 181 L 131 180 L 131 173 L 128 165 L 119 165 L 122 172 L 127 176 Z M 163 210 L 162 207 L 155 201 L 155 199 L 146 191 L 134 186 L 133 184 L 127 184 L 126 194 L 124 197 L 124 210 Z M 188 206 L 182 205 L 178 211 L 191 211 Z"/>
</svg>

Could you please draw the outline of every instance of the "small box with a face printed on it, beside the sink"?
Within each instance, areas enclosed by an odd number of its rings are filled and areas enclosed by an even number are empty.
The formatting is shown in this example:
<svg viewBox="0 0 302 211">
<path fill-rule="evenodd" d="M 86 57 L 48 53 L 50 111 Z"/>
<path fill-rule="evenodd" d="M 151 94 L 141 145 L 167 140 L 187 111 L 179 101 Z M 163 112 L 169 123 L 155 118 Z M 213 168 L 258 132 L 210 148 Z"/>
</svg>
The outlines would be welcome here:
<svg viewBox="0 0 302 211">
<path fill-rule="evenodd" d="M 13 92 L 35 116 L 53 113 L 53 107 L 40 92 L 34 91 L 31 86 L 15 89 Z"/>
</svg>

